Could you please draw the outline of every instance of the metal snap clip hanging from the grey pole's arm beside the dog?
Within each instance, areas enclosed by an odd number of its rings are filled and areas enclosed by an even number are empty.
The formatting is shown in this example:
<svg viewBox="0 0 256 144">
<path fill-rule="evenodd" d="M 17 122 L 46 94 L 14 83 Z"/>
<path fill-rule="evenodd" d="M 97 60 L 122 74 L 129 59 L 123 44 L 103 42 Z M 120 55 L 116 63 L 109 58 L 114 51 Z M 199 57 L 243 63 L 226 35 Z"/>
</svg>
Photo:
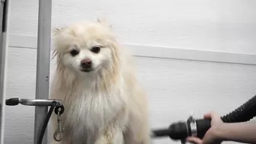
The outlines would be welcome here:
<svg viewBox="0 0 256 144">
<path fill-rule="evenodd" d="M 55 133 L 53 134 L 53 139 L 56 140 L 57 142 L 62 140 L 62 135 L 63 135 L 63 128 L 62 128 L 62 119 L 61 115 L 64 112 L 64 107 L 63 106 L 58 106 L 54 110 L 55 114 L 58 116 L 57 117 L 57 124 L 58 128 L 56 129 Z"/>
</svg>

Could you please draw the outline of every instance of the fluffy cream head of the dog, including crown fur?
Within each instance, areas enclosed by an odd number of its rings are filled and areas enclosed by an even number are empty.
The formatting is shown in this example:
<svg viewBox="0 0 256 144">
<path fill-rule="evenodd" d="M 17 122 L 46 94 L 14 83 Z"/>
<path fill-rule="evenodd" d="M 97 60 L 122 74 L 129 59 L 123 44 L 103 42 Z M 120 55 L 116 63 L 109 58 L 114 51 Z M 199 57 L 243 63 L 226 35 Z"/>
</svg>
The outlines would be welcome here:
<svg viewBox="0 0 256 144">
<path fill-rule="evenodd" d="M 59 30 L 55 45 L 62 65 L 82 73 L 113 65 L 117 53 L 110 27 L 101 22 L 81 22 Z"/>
</svg>

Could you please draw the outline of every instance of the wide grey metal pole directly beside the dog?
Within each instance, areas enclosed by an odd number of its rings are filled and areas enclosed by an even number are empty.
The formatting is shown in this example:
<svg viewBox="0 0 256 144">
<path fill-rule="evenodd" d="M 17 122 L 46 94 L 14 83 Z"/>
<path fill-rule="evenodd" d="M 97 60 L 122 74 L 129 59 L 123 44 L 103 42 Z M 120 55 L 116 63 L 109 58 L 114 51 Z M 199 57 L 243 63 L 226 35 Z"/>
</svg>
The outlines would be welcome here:
<svg viewBox="0 0 256 144">
<path fill-rule="evenodd" d="M 49 98 L 51 17 L 52 0 L 39 0 L 36 99 Z M 37 144 L 47 113 L 48 107 L 35 107 L 34 144 Z M 42 141 L 42 144 L 46 143 L 47 130 Z"/>
</svg>

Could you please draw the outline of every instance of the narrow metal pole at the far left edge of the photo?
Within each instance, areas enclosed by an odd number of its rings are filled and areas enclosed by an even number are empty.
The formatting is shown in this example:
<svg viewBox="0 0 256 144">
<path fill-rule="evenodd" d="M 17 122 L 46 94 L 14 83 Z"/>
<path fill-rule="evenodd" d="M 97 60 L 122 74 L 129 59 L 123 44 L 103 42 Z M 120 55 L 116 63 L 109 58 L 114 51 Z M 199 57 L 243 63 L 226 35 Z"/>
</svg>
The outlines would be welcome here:
<svg viewBox="0 0 256 144">
<path fill-rule="evenodd" d="M 0 144 L 4 144 L 4 127 L 5 127 L 5 83 L 7 71 L 7 55 L 8 55 L 8 16 L 9 5 L 8 0 L 1 0 L 0 3 L 1 17 L 1 36 L 0 36 Z"/>
</svg>

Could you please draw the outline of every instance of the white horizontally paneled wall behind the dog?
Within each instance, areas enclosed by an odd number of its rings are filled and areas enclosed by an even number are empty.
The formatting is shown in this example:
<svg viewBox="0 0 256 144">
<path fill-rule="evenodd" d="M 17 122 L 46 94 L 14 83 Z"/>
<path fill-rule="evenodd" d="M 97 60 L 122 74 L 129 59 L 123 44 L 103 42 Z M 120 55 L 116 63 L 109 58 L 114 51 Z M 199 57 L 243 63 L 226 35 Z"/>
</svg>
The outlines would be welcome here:
<svg viewBox="0 0 256 144">
<path fill-rule="evenodd" d="M 192 110 L 199 118 L 229 113 L 256 94 L 255 7 L 254 0 L 53 0 L 52 26 L 107 18 L 136 56 L 157 128 Z M 11 1 L 7 98 L 35 98 L 37 8 L 38 0 Z M 55 66 L 53 59 L 50 75 Z M 5 144 L 33 143 L 34 107 L 6 107 L 5 118 Z"/>
</svg>

